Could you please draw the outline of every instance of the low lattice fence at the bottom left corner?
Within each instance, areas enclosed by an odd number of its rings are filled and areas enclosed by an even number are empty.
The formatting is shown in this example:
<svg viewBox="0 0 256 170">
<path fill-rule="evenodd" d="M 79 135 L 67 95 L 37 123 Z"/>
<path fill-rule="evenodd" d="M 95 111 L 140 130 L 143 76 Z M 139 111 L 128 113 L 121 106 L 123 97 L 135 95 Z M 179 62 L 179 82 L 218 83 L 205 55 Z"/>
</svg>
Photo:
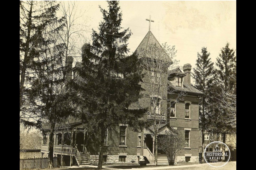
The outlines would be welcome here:
<svg viewBox="0 0 256 170">
<path fill-rule="evenodd" d="M 49 158 L 36 158 L 36 159 L 20 159 L 19 169 L 35 169 L 35 168 L 48 168 Z M 61 158 L 53 158 L 54 167 L 61 166 Z"/>
</svg>

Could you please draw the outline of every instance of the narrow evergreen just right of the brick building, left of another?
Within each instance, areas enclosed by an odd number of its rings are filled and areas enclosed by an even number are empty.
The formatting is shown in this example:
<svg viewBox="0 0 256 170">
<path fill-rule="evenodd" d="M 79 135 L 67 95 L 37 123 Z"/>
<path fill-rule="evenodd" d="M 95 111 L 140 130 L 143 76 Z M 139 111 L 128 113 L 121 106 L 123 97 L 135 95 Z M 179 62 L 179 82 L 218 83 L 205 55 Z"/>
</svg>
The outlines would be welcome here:
<svg viewBox="0 0 256 170">
<path fill-rule="evenodd" d="M 205 131 L 207 130 L 207 117 L 209 114 L 209 98 L 211 97 L 211 84 L 214 78 L 214 66 L 209 57 L 207 48 L 203 47 L 201 54 L 197 53 L 196 68 L 193 68 L 192 77 L 195 79 L 195 88 L 204 95 L 199 99 L 199 125 L 202 130 L 202 152 L 204 151 Z M 204 153 L 202 153 L 202 161 Z"/>
</svg>

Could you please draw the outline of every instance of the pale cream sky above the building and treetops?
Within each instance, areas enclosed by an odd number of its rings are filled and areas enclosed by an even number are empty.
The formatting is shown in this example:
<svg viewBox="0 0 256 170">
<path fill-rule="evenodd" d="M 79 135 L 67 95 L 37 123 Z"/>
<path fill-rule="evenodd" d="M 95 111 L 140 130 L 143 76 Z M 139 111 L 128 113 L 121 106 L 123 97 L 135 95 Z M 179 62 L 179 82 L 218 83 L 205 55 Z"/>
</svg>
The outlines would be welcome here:
<svg viewBox="0 0 256 170">
<path fill-rule="evenodd" d="M 107 9 L 106 1 L 79 1 L 78 10 L 83 12 L 81 22 L 88 26 L 87 40 L 91 40 L 91 29 L 98 30 L 102 13 L 99 5 Z M 236 1 L 120 1 L 122 23 L 130 28 L 128 48 L 130 54 L 149 31 L 160 44 L 175 45 L 179 66 L 190 63 L 195 68 L 197 52 L 207 47 L 215 63 L 222 47 L 230 43 L 236 49 Z M 236 54 L 235 54 L 236 55 Z"/>
</svg>

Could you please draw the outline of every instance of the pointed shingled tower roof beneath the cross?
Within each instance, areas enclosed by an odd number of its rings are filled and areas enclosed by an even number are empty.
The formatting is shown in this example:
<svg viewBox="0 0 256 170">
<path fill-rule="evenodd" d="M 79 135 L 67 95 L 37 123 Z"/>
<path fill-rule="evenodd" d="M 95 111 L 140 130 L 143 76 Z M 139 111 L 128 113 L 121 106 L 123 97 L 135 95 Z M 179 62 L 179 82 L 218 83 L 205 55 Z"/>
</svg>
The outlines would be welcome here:
<svg viewBox="0 0 256 170">
<path fill-rule="evenodd" d="M 143 55 L 143 52 L 148 49 L 149 45 L 155 44 L 157 48 L 162 48 L 160 43 L 157 41 L 155 36 L 151 31 L 147 32 L 146 36 L 143 38 L 135 52 L 137 52 L 138 57 L 141 58 Z M 166 53 L 162 55 L 163 58 L 169 57 Z"/>
</svg>

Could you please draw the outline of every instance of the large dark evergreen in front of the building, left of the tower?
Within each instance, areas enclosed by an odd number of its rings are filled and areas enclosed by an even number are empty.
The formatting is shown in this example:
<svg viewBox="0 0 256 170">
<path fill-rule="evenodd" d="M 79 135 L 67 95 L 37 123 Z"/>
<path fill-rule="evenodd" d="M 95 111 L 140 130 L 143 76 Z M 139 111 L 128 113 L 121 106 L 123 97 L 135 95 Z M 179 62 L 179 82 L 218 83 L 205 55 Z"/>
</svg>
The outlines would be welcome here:
<svg viewBox="0 0 256 170">
<path fill-rule="evenodd" d="M 82 96 L 79 102 L 82 118 L 97 122 L 101 130 L 98 169 L 102 168 L 105 129 L 117 123 L 138 128 L 138 120 L 146 112 L 146 109 L 130 107 L 141 97 L 137 56 L 125 56 L 132 33 L 129 28 L 121 27 L 119 2 L 107 3 L 108 11 L 99 6 L 103 21 L 99 23 L 99 33 L 93 30 L 92 45 L 83 47 L 81 78 L 76 81 Z"/>
</svg>

